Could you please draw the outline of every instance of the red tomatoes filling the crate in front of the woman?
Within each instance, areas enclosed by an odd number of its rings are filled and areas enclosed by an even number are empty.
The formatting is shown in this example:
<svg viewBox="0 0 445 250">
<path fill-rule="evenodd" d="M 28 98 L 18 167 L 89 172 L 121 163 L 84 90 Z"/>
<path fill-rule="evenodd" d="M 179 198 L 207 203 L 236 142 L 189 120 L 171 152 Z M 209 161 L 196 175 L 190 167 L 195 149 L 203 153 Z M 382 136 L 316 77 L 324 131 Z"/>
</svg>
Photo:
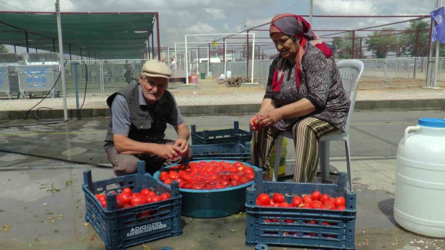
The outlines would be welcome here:
<svg viewBox="0 0 445 250">
<path fill-rule="evenodd" d="M 321 194 L 320 191 L 313 191 L 311 195 L 295 196 L 291 203 L 287 203 L 283 194 L 274 193 L 272 198 L 268 194 L 258 195 L 257 205 L 260 207 L 345 210 L 346 200 L 345 197 L 334 198 L 328 194 Z"/>
</svg>

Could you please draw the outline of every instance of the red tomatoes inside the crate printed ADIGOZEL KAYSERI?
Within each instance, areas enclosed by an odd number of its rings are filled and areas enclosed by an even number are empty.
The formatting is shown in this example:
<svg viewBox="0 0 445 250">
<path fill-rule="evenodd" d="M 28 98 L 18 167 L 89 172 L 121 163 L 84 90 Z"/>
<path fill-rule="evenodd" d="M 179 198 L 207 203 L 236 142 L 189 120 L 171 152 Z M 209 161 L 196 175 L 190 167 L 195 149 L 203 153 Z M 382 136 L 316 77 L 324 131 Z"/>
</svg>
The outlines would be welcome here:
<svg viewBox="0 0 445 250">
<path fill-rule="evenodd" d="M 113 191 L 114 192 L 114 191 Z M 102 207 L 106 208 L 105 194 L 94 195 Z M 170 199 L 170 193 L 157 194 L 155 191 L 144 188 L 139 193 L 133 193 L 131 188 L 124 188 L 121 193 L 116 195 L 118 208 L 132 208 L 139 205 L 154 203 Z"/>
</svg>

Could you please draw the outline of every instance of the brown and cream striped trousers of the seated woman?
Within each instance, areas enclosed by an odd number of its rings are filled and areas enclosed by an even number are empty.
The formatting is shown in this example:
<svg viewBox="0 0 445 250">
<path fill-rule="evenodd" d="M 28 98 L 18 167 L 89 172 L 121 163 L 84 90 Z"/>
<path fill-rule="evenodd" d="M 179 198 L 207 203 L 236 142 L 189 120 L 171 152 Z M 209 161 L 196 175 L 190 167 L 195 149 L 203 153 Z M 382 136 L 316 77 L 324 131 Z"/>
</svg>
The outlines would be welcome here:
<svg viewBox="0 0 445 250">
<path fill-rule="evenodd" d="M 270 170 L 269 159 L 276 144 L 276 138 L 282 130 L 274 126 L 253 131 L 251 145 L 251 163 Z M 324 135 L 341 133 L 334 125 L 317 118 L 308 117 L 298 121 L 292 127 L 296 150 L 294 182 L 312 182 L 318 166 L 318 142 Z M 280 157 L 280 156 L 275 156 Z"/>
</svg>

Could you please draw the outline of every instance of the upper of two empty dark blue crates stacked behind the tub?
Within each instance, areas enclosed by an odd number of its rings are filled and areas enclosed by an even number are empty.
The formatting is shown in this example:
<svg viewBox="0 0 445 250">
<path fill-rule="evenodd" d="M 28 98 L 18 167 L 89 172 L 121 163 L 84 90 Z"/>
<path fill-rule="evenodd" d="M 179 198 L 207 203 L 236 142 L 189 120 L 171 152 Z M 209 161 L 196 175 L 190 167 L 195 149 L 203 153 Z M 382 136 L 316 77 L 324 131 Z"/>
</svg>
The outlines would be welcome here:
<svg viewBox="0 0 445 250">
<path fill-rule="evenodd" d="M 220 144 L 238 141 L 240 137 L 241 143 L 250 142 L 252 139 L 252 131 L 239 129 L 239 123 L 233 122 L 233 128 L 219 130 L 196 131 L 196 125 L 191 125 L 191 138 L 193 145 L 201 144 Z"/>
</svg>

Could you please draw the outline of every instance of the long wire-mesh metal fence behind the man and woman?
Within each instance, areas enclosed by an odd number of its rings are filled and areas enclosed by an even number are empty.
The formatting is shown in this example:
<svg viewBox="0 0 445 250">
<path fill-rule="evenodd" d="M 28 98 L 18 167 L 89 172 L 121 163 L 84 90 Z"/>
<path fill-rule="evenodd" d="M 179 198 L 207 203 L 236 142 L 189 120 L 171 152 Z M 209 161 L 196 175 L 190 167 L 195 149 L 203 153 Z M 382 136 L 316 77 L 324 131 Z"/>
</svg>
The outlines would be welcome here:
<svg viewBox="0 0 445 250">
<path fill-rule="evenodd" d="M 438 86 L 445 86 L 444 59 L 439 59 Z M 360 60 L 364 64 L 363 75 L 359 84 L 362 89 L 425 85 L 427 70 L 427 58 L 425 57 Z M 113 93 L 123 86 L 137 82 L 143 63 L 144 60 L 139 59 L 67 61 L 65 64 L 67 93 L 76 93 L 76 83 L 79 93 L 84 93 L 85 88 L 88 94 Z M 271 60 L 256 60 L 254 62 L 254 82 L 267 84 L 271 63 Z M 252 61 L 249 64 L 250 76 Z M 178 71 L 184 70 L 184 63 L 179 63 L 177 66 Z M 435 68 L 435 63 L 433 63 L 432 68 Z M 191 70 L 192 73 L 196 73 L 196 64 L 192 65 Z M 246 62 L 227 62 L 226 71 L 230 71 L 233 77 L 245 77 L 247 75 Z M 208 75 L 207 63 L 199 63 L 198 72 Z M 218 78 L 224 73 L 224 64 L 210 63 L 209 72 L 214 78 Z"/>
</svg>

